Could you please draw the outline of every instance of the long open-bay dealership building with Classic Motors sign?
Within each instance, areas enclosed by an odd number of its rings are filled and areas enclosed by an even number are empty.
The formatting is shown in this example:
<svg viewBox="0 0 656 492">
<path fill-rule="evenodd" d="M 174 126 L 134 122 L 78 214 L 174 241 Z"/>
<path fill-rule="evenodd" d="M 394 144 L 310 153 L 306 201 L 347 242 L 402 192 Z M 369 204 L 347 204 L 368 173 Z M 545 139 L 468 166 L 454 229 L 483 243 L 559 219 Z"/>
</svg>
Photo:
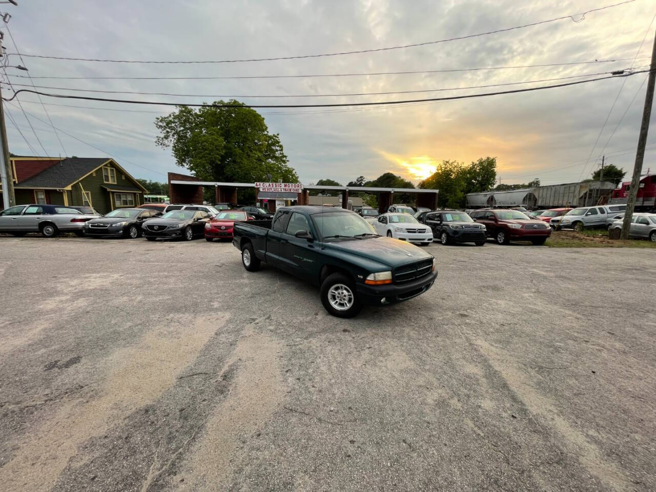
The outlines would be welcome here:
<svg viewBox="0 0 656 492">
<path fill-rule="evenodd" d="M 310 199 L 310 191 L 331 192 L 339 194 L 336 197 L 325 196 L 322 203 L 338 205 L 348 209 L 349 196 L 363 193 L 377 195 L 380 211 L 386 211 L 394 203 L 396 195 L 417 195 L 417 207 L 426 207 L 435 210 L 438 207 L 438 190 L 424 190 L 422 188 L 368 188 L 364 186 L 316 186 L 300 183 L 228 183 L 215 181 L 200 181 L 195 176 L 187 174 L 169 173 L 169 197 L 171 203 L 203 203 L 203 189 L 214 188 L 215 203 L 237 203 L 237 190 L 255 188 L 258 202 L 269 209 L 276 211 L 276 207 L 284 205 L 314 205 L 317 197 Z M 352 205 L 356 205 L 352 203 Z"/>
</svg>

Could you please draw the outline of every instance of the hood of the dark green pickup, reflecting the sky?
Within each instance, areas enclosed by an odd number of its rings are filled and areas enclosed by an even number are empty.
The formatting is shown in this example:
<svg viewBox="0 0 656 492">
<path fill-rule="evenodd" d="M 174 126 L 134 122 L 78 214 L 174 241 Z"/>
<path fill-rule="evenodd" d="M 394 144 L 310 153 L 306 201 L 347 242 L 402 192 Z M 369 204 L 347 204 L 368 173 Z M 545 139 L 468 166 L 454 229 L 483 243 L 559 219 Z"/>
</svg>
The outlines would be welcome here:
<svg viewBox="0 0 656 492">
<path fill-rule="evenodd" d="M 391 266 L 398 266 L 419 260 L 432 258 L 433 255 L 426 253 L 419 246 L 405 241 L 392 239 L 392 237 L 373 237 L 355 241 L 336 241 L 334 243 L 323 243 L 325 249 L 335 251 L 346 251 L 353 255 L 362 256 L 369 260 Z"/>
</svg>

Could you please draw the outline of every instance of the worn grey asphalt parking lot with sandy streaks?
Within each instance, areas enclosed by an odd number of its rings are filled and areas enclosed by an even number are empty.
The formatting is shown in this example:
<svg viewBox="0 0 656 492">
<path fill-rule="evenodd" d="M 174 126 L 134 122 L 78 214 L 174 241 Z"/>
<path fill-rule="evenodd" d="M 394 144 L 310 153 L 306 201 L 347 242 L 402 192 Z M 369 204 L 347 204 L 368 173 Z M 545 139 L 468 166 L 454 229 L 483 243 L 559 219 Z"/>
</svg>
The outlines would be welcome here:
<svg viewBox="0 0 656 492">
<path fill-rule="evenodd" d="M 0 237 L 0 488 L 656 489 L 656 251 L 428 249 L 342 320 L 230 243 Z"/>
</svg>

